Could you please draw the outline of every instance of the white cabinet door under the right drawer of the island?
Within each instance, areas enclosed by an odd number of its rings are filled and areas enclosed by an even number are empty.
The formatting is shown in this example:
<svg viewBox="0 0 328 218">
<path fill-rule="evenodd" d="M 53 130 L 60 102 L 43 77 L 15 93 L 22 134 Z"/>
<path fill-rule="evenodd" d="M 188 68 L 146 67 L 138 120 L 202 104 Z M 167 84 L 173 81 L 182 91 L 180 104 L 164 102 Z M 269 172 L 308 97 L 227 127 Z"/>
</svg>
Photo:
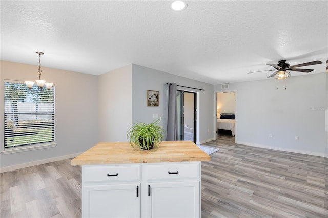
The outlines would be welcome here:
<svg viewBox="0 0 328 218">
<path fill-rule="evenodd" d="M 200 217 L 199 181 L 147 183 L 146 217 Z"/>
</svg>

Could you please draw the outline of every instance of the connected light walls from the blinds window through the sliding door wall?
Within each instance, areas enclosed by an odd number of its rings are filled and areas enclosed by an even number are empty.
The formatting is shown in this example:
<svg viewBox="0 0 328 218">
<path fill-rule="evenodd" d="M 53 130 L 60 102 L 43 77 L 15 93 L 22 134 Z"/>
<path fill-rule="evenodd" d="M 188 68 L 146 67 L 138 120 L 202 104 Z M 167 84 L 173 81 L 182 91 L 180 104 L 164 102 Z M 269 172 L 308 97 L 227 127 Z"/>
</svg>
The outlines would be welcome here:
<svg viewBox="0 0 328 218">
<path fill-rule="evenodd" d="M 1 61 L 0 79 L 33 80 L 37 67 Z M 0 154 L 1 168 L 33 165 L 67 157 L 91 148 L 98 141 L 127 141 L 132 122 L 151 122 L 154 114 L 166 128 L 166 82 L 204 89 L 198 96 L 199 140 L 213 140 L 213 85 L 130 64 L 100 76 L 43 67 L 42 78 L 55 84 L 56 147 Z M 159 91 L 159 106 L 146 106 L 146 91 Z M 194 89 L 185 89 L 195 91 Z M 0 113 L 3 114 L 3 89 Z M 133 108 L 133 110 L 132 110 Z M 210 114 L 210 115 L 209 115 Z M 0 120 L 3 123 L 3 117 Z M 3 125 L 0 127 L 3 133 Z M 3 150 L 3 134 L 0 146 Z"/>
</svg>

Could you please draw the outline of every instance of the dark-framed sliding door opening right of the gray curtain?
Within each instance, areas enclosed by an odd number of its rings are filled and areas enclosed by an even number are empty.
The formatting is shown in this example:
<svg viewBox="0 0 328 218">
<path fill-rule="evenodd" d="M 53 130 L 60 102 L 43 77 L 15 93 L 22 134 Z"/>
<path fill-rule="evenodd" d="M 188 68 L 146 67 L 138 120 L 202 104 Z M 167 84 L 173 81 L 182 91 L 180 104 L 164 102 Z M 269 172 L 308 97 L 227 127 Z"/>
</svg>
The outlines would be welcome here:
<svg viewBox="0 0 328 218">
<path fill-rule="evenodd" d="M 177 90 L 179 140 L 196 143 L 197 93 Z"/>
</svg>

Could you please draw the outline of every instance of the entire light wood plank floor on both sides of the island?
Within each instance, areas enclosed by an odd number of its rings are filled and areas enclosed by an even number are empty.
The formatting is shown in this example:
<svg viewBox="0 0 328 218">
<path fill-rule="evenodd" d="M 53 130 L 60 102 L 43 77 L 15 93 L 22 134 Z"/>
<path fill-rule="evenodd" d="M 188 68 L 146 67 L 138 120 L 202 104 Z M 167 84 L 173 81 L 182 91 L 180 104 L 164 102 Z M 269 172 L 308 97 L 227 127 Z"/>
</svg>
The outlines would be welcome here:
<svg viewBox="0 0 328 218">
<path fill-rule="evenodd" d="M 202 162 L 201 217 L 328 217 L 328 159 L 234 143 Z M 70 159 L 0 174 L 0 217 L 80 217 L 81 167 Z M 169 217 L 168 217 L 169 218 Z"/>
</svg>

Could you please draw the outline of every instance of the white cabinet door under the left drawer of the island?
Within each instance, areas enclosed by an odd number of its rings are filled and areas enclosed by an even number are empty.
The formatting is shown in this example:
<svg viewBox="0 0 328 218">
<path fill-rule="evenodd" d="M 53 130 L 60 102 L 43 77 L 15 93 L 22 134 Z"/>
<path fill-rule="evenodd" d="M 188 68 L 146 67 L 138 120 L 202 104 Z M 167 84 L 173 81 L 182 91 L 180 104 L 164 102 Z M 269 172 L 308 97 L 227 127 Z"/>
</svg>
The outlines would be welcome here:
<svg viewBox="0 0 328 218">
<path fill-rule="evenodd" d="M 82 189 L 83 217 L 140 217 L 140 183 L 85 185 Z"/>
</svg>

